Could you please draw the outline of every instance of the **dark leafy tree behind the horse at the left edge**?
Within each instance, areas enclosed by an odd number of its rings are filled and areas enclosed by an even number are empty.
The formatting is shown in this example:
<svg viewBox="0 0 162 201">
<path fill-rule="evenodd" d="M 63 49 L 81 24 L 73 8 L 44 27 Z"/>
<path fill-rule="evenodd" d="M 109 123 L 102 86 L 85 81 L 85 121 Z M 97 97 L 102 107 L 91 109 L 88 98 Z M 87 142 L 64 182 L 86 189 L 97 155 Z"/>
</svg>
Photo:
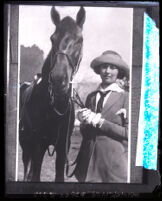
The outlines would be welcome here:
<svg viewBox="0 0 162 201">
<path fill-rule="evenodd" d="M 35 74 L 41 73 L 44 52 L 36 45 L 32 47 L 21 45 L 20 50 L 20 83 L 31 82 Z"/>
</svg>

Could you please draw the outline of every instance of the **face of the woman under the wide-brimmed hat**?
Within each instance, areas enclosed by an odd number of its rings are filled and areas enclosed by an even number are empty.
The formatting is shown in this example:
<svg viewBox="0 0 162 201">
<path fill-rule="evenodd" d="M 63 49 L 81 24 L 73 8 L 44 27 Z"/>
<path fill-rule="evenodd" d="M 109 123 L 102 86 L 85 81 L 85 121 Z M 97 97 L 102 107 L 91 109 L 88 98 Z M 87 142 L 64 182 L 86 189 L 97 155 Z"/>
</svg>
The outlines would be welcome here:
<svg viewBox="0 0 162 201">
<path fill-rule="evenodd" d="M 100 67 L 100 76 L 102 79 L 102 84 L 108 86 L 112 83 L 115 83 L 118 77 L 118 73 L 119 70 L 117 66 L 114 66 L 112 64 L 103 64 Z"/>
</svg>

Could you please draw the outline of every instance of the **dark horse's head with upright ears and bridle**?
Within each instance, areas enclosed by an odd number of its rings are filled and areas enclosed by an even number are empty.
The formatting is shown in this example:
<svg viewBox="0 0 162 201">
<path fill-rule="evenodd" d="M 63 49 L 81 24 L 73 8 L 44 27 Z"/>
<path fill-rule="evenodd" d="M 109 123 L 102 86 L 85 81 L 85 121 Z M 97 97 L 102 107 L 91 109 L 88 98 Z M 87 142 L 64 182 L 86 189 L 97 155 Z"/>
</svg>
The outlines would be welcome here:
<svg viewBox="0 0 162 201">
<path fill-rule="evenodd" d="M 50 38 L 52 48 L 45 61 L 47 65 L 42 68 L 42 77 L 48 80 L 51 94 L 63 97 L 69 94 L 70 81 L 82 59 L 85 10 L 80 8 L 76 20 L 69 16 L 61 20 L 58 11 L 52 7 L 51 18 L 56 29 Z"/>
</svg>

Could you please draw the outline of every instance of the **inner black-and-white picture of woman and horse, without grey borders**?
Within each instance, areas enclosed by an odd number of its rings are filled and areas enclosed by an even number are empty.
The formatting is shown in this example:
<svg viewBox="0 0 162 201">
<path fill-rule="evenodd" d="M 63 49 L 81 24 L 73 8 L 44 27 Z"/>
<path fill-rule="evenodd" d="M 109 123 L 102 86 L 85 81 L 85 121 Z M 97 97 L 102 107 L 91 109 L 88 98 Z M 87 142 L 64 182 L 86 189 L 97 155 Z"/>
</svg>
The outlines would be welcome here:
<svg viewBox="0 0 162 201">
<path fill-rule="evenodd" d="M 129 182 L 133 9 L 19 12 L 18 180 Z"/>
</svg>

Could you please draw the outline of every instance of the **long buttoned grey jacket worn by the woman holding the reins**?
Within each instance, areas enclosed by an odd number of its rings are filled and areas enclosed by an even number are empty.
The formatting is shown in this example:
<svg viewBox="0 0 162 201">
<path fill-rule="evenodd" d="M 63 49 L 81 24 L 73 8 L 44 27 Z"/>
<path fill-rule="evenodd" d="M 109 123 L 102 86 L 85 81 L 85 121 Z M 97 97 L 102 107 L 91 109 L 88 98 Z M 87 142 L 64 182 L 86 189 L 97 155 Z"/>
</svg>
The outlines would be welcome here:
<svg viewBox="0 0 162 201">
<path fill-rule="evenodd" d="M 86 107 L 95 112 L 96 91 L 88 95 Z M 79 182 L 127 182 L 128 93 L 112 92 L 102 109 L 101 128 L 81 124 L 82 144 L 75 177 Z M 126 119 L 117 115 L 121 108 Z"/>
</svg>

